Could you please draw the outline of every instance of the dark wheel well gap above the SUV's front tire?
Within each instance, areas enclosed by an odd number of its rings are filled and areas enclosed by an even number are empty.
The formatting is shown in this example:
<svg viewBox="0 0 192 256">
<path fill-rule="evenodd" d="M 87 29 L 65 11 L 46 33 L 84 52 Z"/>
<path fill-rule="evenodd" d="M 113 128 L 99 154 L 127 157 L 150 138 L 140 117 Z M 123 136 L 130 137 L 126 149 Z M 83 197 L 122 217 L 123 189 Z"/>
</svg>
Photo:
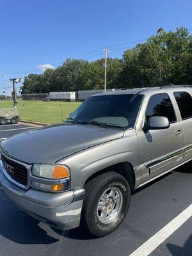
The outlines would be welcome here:
<svg viewBox="0 0 192 256">
<path fill-rule="evenodd" d="M 109 172 L 109 171 L 113 171 L 113 172 L 117 172 L 120 175 L 124 176 L 124 178 L 129 182 L 129 186 L 131 188 L 131 191 L 134 189 L 135 186 L 135 174 L 134 174 L 134 170 L 132 168 L 132 164 L 129 162 L 123 162 L 123 163 L 118 163 L 118 164 L 114 164 L 111 165 L 107 168 L 104 168 L 96 173 L 93 173 L 93 175 L 91 175 L 86 182 L 88 182 L 89 180 L 93 179 L 94 177 L 105 173 L 105 172 Z M 86 183 L 85 182 L 85 183 Z"/>
</svg>

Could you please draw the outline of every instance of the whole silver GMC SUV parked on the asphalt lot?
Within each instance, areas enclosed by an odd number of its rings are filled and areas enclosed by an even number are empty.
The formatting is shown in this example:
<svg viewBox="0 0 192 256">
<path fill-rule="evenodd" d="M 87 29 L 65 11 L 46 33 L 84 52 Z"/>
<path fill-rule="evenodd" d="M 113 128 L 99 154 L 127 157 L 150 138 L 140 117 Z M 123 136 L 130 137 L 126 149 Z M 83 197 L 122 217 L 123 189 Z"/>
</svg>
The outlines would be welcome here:
<svg viewBox="0 0 192 256">
<path fill-rule="evenodd" d="M 191 160 L 191 89 L 94 95 L 65 122 L 3 141 L 5 195 L 47 225 L 106 236 L 124 220 L 131 191 Z"/>
</svg>

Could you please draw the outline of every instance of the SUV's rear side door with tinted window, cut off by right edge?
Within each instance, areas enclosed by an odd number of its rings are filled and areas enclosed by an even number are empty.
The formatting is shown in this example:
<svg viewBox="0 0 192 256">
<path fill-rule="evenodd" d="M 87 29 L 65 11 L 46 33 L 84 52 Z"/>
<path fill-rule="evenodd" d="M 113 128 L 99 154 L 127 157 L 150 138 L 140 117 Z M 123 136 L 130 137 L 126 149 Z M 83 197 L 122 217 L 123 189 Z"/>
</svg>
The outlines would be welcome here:
<svg viewBox="0 0 192 256">
<path fill-rule="evenodd" d="M 192 97 L 190 92 L 174 92 L 184 133 L 184 161 L 192 158 Z"/>
</svg>

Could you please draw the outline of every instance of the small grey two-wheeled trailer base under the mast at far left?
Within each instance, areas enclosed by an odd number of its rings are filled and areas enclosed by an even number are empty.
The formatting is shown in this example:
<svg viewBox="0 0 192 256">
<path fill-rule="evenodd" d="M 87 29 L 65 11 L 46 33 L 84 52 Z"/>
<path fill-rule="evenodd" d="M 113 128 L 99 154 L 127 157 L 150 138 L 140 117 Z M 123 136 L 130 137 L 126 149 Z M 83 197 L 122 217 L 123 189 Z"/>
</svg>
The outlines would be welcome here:
<svg viewBox="0 0 192 256">
<path fill-rule="evenodd" d="M 17 108 L 0 108 L 0 124 L 17 124 L 19 120 L 19 112 Z"/>
</svg>

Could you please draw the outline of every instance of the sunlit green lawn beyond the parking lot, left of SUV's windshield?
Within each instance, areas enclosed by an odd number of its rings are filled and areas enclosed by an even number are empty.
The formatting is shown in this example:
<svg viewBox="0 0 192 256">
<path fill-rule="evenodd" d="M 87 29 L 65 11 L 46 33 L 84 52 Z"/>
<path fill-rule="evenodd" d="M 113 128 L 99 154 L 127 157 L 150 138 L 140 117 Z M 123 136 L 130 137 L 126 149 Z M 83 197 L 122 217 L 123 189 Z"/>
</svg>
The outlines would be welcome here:
<svg viewBox="0 0 192 256">
<path fill-rule="evenodd" d="M 24 109 L 22 111 L 22 105 Z M 81 102 L 61 102 L 63 120 L 74 111 Z M 0 100 L 0 108 L 12 108 L 11 100 Z M 60 102 L 43 102 L 37 100 L 22 100 L 18 102 L 19 115 L 22 111 L 21 120 L 56 124 L 61 122 Z"/>
</svg>

